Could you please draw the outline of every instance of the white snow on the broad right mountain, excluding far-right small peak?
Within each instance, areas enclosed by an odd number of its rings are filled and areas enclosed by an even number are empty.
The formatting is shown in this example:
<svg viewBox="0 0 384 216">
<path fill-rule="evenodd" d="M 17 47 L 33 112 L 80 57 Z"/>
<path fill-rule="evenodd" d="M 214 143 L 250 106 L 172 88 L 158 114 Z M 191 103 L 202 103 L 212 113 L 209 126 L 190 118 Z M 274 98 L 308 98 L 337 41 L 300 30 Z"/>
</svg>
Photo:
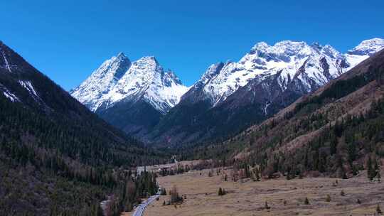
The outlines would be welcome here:
<svg viewBox="0 0 384 216">
<path fill-rule="evenodd" d="M 324 59 L 324 60 L 323 60 Z M 304 65 L 306 73 L 321 85 L 330 78 L 341 74 L 341 63 L 344 57 L 330 45 L 321 46 L 318 43 L 307 45 L 305 42 L 281 41 L 274 45 L 265 42 L 257 43 L 238 63 L 226 63 L 210 75 L 213 66 L 201 77 L 195 85 L 204 85 L 203 91 L 211 99 L 213 106 L 223 102 L 239 87 L 247 85 L 250 80 L 262 80 L 267 76 L 280 73 L 279 83 L 285 89 L 288 80 L 297 74 Z M 324 71 L 326 62 L 329 65 L 329 74 Z M 210 76 L 208 76 L 210 75 Z M 308 91 L 310 85 L 308 85 Z"/>
</svg>

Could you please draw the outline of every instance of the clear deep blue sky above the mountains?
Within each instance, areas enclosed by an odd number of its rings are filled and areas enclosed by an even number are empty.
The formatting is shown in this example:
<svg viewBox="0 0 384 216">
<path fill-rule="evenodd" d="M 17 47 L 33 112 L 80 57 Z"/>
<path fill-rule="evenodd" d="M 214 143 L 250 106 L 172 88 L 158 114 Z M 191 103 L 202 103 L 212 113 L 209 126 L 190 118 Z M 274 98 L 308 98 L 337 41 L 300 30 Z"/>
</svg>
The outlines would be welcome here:
<svg viewBox="0 0 384 216">
<path fill-rule="evenodd" d="M 384 1 L 1 0 L 0 40 L 70 90 L 106 59 L 154 55 L 192 85 L 259 41 L 346 50 L 384 37 Z"/>
</svg>

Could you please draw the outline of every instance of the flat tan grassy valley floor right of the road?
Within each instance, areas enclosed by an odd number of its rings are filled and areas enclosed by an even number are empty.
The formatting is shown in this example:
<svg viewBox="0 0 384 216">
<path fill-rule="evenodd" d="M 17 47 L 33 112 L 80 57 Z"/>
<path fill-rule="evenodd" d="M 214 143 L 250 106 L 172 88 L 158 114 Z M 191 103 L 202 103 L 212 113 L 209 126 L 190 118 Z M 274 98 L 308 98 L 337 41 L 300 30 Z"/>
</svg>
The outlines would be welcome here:
<svg viewBox="0 0 384 216">
<path fill-rule="evenodd" d="M 146 208 L 144 216 L 157 215 L 374 215 L 379 204 L 384 210 L 384 183 L 372 183 L 362 172 L 355 178 L 304 178 L 286 180 L 224 181 L 223 175 L 208 177 L 210 170 L 159 177 L 167 191 L 176 185 L 186 195 L 183 204 L 163 205 L 161 196 Z M 229 174 L 229 171 L 225 171 Z M 229 175 L 228 175 L 229 176 Z M 336 183 L 336 180 L 338 183 Z M 228 194 L 218 196 L 218 188 Z M 341 190 L 345 195 L 341 195 Z M 331 201 L 326 202 L 327 195 Z M 309 205 L 304 204 L 305 198 Z M 284 205 L 284 200 L 286 205 Z M 361 204 L 358 204 L 358 200 Z M 270 209 L 265 209 L 267 201 Z"/>
</svg>

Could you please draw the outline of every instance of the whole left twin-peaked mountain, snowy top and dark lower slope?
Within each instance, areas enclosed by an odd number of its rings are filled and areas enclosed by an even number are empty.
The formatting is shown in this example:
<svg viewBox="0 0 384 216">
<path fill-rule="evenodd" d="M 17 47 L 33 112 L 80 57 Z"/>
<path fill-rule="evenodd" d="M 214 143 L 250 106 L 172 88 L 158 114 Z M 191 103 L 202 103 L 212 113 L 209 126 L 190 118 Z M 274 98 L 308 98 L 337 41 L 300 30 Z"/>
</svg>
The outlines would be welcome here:
<svg viewBox="0 0 384 216">
<path fill-rule="evenodd" d="M 71 95 L 128 134 L 142 138 L 188 88 L 153 56 L 106 60 Z"/>
</svg>

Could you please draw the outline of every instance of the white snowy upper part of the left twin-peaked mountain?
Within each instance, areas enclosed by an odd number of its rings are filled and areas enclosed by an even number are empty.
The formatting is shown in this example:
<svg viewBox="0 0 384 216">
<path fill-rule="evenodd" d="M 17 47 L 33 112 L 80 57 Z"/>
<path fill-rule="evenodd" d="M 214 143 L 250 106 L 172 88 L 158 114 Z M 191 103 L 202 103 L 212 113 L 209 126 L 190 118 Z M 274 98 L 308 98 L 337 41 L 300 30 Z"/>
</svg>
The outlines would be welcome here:
<svg viewBox="0 0 384 216">
<path fill-rule="evenodd" d="M 123 99 L 143 98 L 162 113 L 176 105 L 188 88 L 171 70 L 165 71 L 154 56 L 130 63 L 123 54 L 107 60 L 71 92 L 73 97 L 96 111 Z"/>
</svg>

